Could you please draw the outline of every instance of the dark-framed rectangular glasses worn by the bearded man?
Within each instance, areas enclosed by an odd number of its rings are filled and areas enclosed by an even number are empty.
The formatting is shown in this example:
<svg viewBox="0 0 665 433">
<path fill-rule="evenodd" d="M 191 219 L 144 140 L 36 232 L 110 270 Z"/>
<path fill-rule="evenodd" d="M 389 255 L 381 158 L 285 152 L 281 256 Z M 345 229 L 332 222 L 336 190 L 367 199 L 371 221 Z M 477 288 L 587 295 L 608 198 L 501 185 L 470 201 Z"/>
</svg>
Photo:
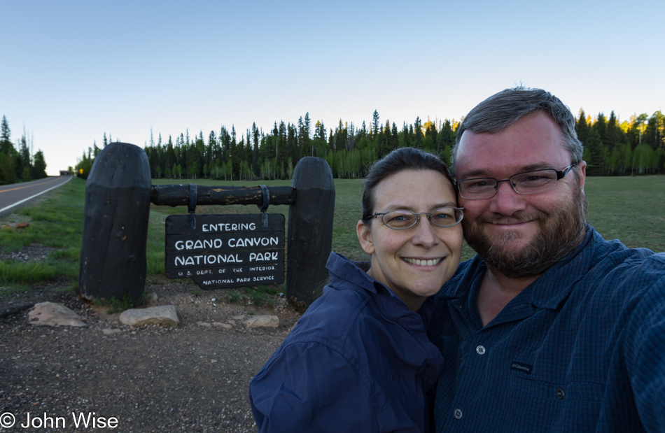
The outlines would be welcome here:
<svg viewBox="0 0 665 433">
<path fill-rule="evenodd" d="M 554 190 L 556 181 L 563 179 L 575 164 L 570 164 L 563 170 L 534 170 L 524 173 L 517 173 L 514 176 L 504 180 L 494 178 L 475 178 L 458 180 L 455 187 L 459 194 L 465 199 L 490 199 L 496 195 L 498 184 L 508 182 L 517 194 L 534 194 L 535 192 L 544 192 Z"/>
</svg>

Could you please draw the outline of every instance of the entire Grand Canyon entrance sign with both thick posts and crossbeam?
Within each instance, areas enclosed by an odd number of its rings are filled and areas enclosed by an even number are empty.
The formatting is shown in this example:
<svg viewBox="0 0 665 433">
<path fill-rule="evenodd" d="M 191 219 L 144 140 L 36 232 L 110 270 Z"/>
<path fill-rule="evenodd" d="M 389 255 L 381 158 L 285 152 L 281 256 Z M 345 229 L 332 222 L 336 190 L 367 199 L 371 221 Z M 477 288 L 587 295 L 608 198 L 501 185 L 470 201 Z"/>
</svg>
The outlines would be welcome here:
<svg viewBox="0 0 665 433">
<path fill-rule="evenodd" d="M 94 159 L 85 184 L 78 293 L 85 299 L 141 299 L 151 203 L 187 206 L 167 218 L 165 270 L 204 289 L 280 284 L 286 297 L 309 305 L 321 295 L 332 248 L 335 185 L 325 159 L 303 157 L 290 187 L 151 185 L 144 149 L 110 143 Z M 255 205 L 251 215 L 197 215 L 197 205 Z M 289 206 L 284 217 L 270 206 Z M 264 224 L 264 218 L 266 224 Z M 234 226 L 235 225 L 235 226 Z"/>
</svg>

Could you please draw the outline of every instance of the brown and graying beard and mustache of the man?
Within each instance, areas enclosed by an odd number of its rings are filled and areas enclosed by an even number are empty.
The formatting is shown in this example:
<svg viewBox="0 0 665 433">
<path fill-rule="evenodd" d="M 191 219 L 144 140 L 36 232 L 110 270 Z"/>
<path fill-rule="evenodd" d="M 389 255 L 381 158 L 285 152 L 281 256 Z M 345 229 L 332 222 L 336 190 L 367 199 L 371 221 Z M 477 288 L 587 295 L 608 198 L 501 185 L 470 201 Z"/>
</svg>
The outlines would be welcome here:
<svg viewBox="0 0 665 433">
<path fill-rule="evenodd" d="M 510 217 L 479 217 L 475 222 L 462 220 L 464 238 L 488 267 L 508 278 L 540 275 L 563 260 L 584 239 L 587 197 L 582 190 L 576 190 L 568 206 L 554 208 L 550 213 L 541 211 L 533 216 L 516 213 Z M 533 220 L 533 217 L 540 224 L 540 232 L 520 250 L 507 248 L 519 240 L 519 232 L 507 232 L 495 243 L 491 243 L 491 239 L 483 233 L 485 223 L 526 222 Z"/>
</svg>

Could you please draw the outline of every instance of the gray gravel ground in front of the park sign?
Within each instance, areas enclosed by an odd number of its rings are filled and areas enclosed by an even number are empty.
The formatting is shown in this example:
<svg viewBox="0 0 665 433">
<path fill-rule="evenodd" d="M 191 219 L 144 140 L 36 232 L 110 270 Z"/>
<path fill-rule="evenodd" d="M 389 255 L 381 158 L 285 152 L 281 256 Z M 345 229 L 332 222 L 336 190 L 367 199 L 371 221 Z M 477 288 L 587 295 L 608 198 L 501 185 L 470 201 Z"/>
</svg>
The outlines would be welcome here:
<svg viewBox="0 0 665 433">
<path fill-rule="evenodd" d="M 39 260 L 38 246 L 20 257 Z M 34 257 L 31 257 L 33 256 Z M 17 257 L 18 258 L 18 257 Z M 182 280 L 149 278 L 154 305 L 174 304 L 174 327 L 127 327 L 108 308 L 92 306 L 57 283 L 27 294 L 0 298 L 0 424 L 3 431 L 90 431 L 92 419 L 118 423 L 119 432 L 253 432 L 247 399 L 249 380 L 279 346 L 299 317 L 283 299 L 267 309 L 228 304 L 228 290 L 201 291 Z M 197 290 L 196 290 L 197 291 Z M 198 291 L 197 291 L 198 292 Z M 59 302 L 87 327 L 29 324 L 29 306 Z M 276 329 L 247 329 L 248 313 L 278 315 Z M 230 329 L 214 326 L 220 322 Z M 115 334 L 106 334 L 118 329 Z M 76 427 L 73 415 L 87 417 Z M 27 416 L 35 427 L 50 417 L 57 426 L 20 428 Z M 58 419 L 62 418 L 62 419 Z M 62 425 L 64 424 L 64 428 Z M 57 428 L 56 428 L 57 427 Z"/>
</svg>

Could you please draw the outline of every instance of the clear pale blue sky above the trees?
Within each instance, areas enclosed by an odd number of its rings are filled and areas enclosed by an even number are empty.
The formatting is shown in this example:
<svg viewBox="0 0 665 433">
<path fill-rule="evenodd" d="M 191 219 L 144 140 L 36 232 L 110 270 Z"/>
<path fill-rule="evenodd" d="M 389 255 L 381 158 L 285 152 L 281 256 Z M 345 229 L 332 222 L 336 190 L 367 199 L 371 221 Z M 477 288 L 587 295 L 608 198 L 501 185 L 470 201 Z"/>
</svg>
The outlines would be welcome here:
<svg viewBox="0 0 665 433">
<path fill-rule="evenodd" d="M 541 4 L 542 3 L 542 4 Z M 47 171 L 104 132 L 144 146 L 309 112 L 459 119 L 517 83 L 577 115 L 665 103 L 665 2 L 0 0 L 0 115 Z"/>
</svg>

